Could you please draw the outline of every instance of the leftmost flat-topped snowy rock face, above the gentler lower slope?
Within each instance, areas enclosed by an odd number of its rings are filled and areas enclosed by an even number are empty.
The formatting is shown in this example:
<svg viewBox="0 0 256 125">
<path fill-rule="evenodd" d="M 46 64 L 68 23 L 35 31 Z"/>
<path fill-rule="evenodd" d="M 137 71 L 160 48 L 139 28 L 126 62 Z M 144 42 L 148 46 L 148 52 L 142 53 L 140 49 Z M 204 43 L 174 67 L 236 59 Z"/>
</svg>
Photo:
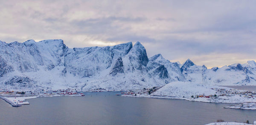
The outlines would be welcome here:
<svg viewBox="0 0 256 125">
<path fill-rule="evenodd" d="M 1 56 L 20 72 L 38 71 L 40 66 L 51 70 L 55 65 L 61 65 L 66 49 L 62 40 L 1 43 Z"/>
</svg>

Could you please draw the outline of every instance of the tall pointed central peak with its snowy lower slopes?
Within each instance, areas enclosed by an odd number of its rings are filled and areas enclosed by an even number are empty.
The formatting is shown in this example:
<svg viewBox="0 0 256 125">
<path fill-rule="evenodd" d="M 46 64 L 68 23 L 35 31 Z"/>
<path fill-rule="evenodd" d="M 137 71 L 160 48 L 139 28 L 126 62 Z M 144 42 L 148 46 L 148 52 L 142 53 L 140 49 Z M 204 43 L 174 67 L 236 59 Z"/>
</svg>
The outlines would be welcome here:
<svg viewBox="0 0 256 125">
<path fill-rule="evenodd" d="M 148 63 L 144 46 L 137 42 L 127 54 L 114 60 L 110 72 L 106 69 L 108 74 L 99 76 L 96 80 L 88 81 L 83 89 L 139 90 L 163 86 L 169 82 L 168 71 L 165 66 L 148 68 Z"/>
</svg>

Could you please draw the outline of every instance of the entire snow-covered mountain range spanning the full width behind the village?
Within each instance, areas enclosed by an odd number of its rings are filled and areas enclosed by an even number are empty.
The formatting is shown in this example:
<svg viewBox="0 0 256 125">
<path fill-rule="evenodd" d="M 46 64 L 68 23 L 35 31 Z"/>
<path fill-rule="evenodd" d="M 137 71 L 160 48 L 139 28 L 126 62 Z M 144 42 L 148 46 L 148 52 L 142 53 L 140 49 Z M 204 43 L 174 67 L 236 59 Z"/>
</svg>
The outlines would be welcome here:
<svg viewBox="0 0 256 125">
<path fill-rule="evenodd" d="M 118 91 L 152 88 L 174 81 L 256 85 L 256 62 L 208 69 L 189 59 L 181 65 L 161 54 L 148 58 L 140 42 L 68 48 L 63 40 L 0 41 L 0 88 Z"/>
</svg>

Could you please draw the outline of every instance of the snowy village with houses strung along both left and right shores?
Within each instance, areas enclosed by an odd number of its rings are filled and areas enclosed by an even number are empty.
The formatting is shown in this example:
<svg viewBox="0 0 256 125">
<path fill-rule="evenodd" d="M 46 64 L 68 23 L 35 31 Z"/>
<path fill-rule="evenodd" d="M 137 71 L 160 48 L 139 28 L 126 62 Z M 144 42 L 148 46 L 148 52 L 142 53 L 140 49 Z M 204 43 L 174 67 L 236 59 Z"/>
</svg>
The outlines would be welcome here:
<svg viewBox="0 0 256 125">
<path fill-rule="evenodd" d="M 205 94 L 198 92 L 197 94 L 184 94 L 182 91 L 176 92 L 176 94 L 157 94 L 161 87 L 143 88 L 142 91 L 121 91 L 121 96 L 128 97 L 148 97 L 148 98 L 164 98 L 164 99 L 186 99 L 189 101 L 198 102 L 215 102 L 215 103 L 237 103 L 236 109 L 254 109 L 256 105 L 256 92 L 254 91 L 241 91 L 231 88 L 210 88 L 214 91 L 211 94 Z M 105 89 L 99 88 L 90 92 L 102 92 Z M 12 106 L 28 105 L 29 102 L 26 99 L 37 97 L 54 97 L 54 96 L 84 96 L 84 93 L 77 91 L 76 89 L 58 89 L 58 90 L 35 90 L 35 91 L 11 91 L 6 89 L 0 89 L 0 98 L 10 103 Z M 253 102 L 250 104 L 249 102 Z M 241 105 L 243 104 L 244 105 Z M 250 105 L 250 108 L 245 107 Z M 234 108 L 234 107 L 227 107 Z"/>
</svg>

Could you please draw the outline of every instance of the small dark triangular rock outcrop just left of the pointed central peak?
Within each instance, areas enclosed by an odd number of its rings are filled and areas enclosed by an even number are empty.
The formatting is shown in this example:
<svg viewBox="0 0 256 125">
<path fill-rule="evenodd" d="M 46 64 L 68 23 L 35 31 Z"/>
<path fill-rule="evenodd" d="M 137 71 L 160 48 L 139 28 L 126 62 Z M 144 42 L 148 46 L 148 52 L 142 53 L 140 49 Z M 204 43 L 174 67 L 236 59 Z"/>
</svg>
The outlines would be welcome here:
<svg viewBox="0 0 256 125">
<path fill-rule="evenodd" d="M 116 60 L 116 63 L 113 65 L 113 68 L 110 71 L 110 74 L 112 76 L 114 76 L 114 75 L 116 75 L 118 73 L 119 74 L 123 74 L 124 73 L 124 65 L 123 65 L 123 62 L 122 62 L 122 57 L 119 57 Z"/>
</svg>

